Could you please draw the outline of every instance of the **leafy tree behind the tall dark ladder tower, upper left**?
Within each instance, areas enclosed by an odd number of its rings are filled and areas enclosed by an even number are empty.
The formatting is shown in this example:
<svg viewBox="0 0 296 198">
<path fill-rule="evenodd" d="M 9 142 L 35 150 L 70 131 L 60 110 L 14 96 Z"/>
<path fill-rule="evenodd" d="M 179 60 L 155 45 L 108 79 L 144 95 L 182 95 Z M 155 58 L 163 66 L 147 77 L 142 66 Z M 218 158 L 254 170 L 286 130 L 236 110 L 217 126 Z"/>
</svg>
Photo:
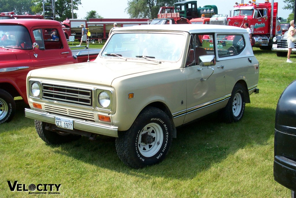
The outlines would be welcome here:
<svg viewBox="0 0 296 198">
<path fill-rule="evenodd" d="M 32 0 L 34 6 L 31 7 L 32 11 L 43 13 L 42 0 Z M 81 4 L 81 0 L 73 0 L 73 9 L 77 10 L 78 5 Z M 65 20 L 66 18 L 72 18 L 72 4 L 71 0 L 55 0 L 55 14 L 57 21 Z M 74 18 L 77 18 L 77 14 L 74 13 Z"/>
</svg>

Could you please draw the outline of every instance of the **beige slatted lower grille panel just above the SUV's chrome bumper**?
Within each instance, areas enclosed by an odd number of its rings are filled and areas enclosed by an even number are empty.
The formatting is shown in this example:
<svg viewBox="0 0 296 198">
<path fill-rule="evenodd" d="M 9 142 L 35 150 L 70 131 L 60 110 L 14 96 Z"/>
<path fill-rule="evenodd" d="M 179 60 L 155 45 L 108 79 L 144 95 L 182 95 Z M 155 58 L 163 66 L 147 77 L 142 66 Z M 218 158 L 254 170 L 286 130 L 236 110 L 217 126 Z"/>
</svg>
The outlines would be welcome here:
<svg viewBox="0 0 296 198">
<path fill-rule="evenodd" d="M 68 108 L 54 107 L 49 105 L 45 105 L 44 108 L 45 111 L 49 113 L 55 113 L 58 115 L 69 116 L 72 118 L 94 121 L 94 113 L 90 113 L 87 111 L 76 111 Z"/>
</svg>

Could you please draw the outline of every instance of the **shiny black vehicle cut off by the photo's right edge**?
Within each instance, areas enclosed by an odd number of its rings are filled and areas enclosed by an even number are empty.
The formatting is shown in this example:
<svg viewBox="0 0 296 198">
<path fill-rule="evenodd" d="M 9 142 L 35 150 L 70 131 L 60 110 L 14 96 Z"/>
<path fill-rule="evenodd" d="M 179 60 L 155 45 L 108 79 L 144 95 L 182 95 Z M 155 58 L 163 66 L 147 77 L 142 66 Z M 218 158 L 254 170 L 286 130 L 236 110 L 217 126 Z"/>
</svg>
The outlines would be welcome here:
<svg viewBox="0 0 296 198">
<path fill-rule="evenodd" d="M 296 81 L 281 94 L 274 131 L 274 180 L 296 197 Z"/>
</svg>

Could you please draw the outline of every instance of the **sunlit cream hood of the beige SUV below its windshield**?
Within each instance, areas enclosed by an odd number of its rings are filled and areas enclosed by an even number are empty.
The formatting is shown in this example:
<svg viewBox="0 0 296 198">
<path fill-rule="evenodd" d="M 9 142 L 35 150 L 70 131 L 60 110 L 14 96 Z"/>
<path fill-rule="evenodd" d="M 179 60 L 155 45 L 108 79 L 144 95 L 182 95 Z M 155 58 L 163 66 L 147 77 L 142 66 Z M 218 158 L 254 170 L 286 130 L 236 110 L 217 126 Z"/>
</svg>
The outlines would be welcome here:
<svg viewBox="0 0 296 198">
<path fill-rule="evenodd" d="M 28 76 L 111 86 L 118 77 L 164 69 L 167 66 L 148 60 L 91 61 L 32 70 Z"/>
</svg>

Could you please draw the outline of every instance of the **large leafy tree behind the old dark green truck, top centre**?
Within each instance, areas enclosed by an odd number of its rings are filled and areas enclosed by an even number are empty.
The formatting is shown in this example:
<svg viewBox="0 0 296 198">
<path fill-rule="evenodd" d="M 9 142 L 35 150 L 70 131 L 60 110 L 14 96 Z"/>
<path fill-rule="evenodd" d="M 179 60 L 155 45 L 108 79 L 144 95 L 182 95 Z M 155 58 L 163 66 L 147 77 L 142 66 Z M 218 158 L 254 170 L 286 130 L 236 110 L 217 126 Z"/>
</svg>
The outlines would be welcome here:
<svg viewBox="0 0 296 198">
<path fill-rule="evenodd" d="M 131 18 L 157 18 L 160 7 L 173 6 L 179 0 L 130 0 L 125 12 Z"/>
</svg>

